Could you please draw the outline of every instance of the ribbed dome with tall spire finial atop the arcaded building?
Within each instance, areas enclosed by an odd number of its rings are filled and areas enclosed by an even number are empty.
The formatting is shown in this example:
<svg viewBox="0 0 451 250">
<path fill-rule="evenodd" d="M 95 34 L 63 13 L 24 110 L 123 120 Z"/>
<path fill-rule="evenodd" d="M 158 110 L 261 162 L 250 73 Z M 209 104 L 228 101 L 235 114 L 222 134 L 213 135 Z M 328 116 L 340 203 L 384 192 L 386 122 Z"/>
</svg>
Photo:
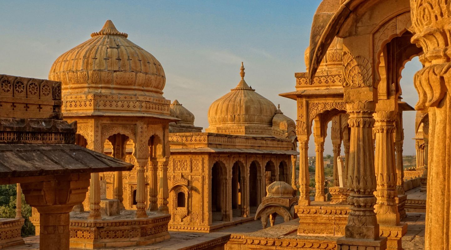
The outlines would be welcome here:
<svg viewBox="0 0 451 250">
<path fill-rule="evenodd" d="M 241 81 L 230 92 L 212 103 L 208 109 L 208 130 L 230 125 L 271 127 L 276 106 L 264 98 L 244 80 L 241 64 Z M 227 134 L 226 132 L 224 132 Z"/>
</svg>

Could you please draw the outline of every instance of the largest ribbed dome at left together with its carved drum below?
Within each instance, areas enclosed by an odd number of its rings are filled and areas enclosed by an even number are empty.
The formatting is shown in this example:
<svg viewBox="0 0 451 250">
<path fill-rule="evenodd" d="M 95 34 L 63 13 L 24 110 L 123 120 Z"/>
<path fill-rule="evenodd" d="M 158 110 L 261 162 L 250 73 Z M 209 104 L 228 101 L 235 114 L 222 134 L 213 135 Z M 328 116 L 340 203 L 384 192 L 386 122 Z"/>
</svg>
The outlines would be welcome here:
<svg viewBox="0 0 451 250">
<path fill-rule="evenodd" d="M 127 37 L 107 20 L 91 39 L 55 60 L 49 79 L 62 83 L 64 113 L 170 115 L 163 67 Z"/>
</svg>

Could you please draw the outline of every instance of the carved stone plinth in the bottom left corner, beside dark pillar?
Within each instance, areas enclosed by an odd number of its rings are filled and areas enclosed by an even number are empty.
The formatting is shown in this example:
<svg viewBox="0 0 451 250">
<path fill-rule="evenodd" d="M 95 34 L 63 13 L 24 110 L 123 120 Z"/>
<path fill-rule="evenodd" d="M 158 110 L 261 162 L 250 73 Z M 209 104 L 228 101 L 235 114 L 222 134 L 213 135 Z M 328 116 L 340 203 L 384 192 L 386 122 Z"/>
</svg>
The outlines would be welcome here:
<svg viewBox="0 0 451 250">
<path fill-rule="evenodd" d="M 24 244 L 20 236 L 20 229 L 24 222 L 23 218 L 0 219 L 0 249 Z"/>
</svg>

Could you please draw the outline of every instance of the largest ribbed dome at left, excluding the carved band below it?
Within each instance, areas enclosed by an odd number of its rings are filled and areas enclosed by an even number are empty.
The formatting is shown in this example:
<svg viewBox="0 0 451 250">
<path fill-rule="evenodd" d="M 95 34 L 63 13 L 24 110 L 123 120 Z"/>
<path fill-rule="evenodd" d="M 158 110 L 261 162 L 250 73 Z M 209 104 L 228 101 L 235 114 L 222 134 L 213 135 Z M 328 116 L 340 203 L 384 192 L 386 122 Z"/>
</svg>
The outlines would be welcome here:
<svg viewBox="0 0 451 250">
<path fill-rule="evenodd" d="M 161 98 L 165 72 L 152 54 L 128 40 L 111 20 L 91 37 L 51 67 L 49 79 L 61 81 L 63 97 L 77 92 Z"/>
</svg>

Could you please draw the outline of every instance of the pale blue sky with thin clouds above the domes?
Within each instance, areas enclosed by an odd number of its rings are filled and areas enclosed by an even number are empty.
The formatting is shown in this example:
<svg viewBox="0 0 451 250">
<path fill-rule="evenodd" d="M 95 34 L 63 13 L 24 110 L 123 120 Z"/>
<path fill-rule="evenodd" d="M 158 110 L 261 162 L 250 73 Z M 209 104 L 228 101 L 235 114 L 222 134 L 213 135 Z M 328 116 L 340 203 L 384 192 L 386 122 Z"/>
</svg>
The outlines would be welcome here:
<svg viewBox="0 0 451 250">
<path fill-rule="evenodd" d="M 295 101 L 278 94 L 293 91 L 294 73 L 305 71 L 304 50 L 319 3 L 0 0 L 0 73 L 46 79 L 60 54 L 111 19 L 161 62 L 167 78 L 164 96 L 193 112 L 195 125 L 208 126 L 208 107 L 238 84 L 242 61 L 247 83 L 295 120 Z M 404 98 L 412 106 L 418 99 L 412 84 L 416 61 L 403 71 L 402 80 Z M 405 154 L 415 152 L 411 113 L 405 117 Z M 331 153 L 330 140 L 326 143 L 325 154 Z M 313 145 L 309 155 L 314 155 Z"/>
</svg>

